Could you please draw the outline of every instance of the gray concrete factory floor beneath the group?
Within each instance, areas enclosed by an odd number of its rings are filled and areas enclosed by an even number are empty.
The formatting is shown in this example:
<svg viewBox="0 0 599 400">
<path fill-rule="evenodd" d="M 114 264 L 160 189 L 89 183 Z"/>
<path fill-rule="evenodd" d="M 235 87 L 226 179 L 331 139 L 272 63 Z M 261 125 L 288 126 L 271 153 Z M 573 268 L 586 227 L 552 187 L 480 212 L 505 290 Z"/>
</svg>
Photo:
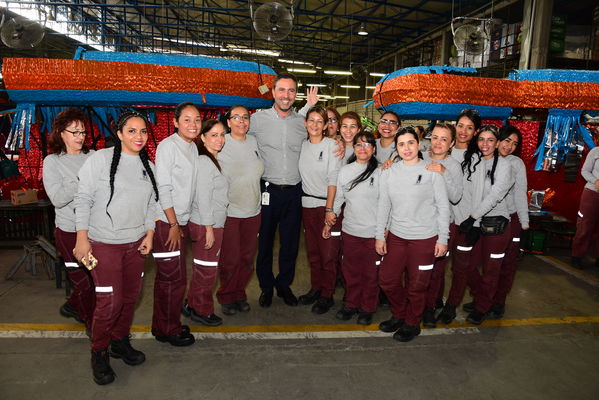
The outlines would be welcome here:
<svg viewBox="0 0 599 400">
<path fill-rule="evenodd" d="M 21 254 L 0 248 L 0 276 Z M 423 330 L 409 343 L 309 307 L 257 304 L 221 327 L 192 324 L 198 341 L 175 348 L 151 338 L 154 264 L 134 320 L 133 344 L 147 361 L 112 360 L 113 384 L 93 383 L 89 342 L 58 314 L 64 289 L 21 269 L 0 279 L 0 399 L 592 399 L 599 398 L 599 268 L 580 272 L 563 260 L 525 256 L 501 321 L 480 327 L 460 311 L 450 326 Z M 305 253 L 293 289 L 309 288 Z M 220 310 L 217 308 L 217 313 Z M 220 314 L 222 315 L 222 314 Z M 191 323 L 192 321 L 186 321 Z"/>
</svg>

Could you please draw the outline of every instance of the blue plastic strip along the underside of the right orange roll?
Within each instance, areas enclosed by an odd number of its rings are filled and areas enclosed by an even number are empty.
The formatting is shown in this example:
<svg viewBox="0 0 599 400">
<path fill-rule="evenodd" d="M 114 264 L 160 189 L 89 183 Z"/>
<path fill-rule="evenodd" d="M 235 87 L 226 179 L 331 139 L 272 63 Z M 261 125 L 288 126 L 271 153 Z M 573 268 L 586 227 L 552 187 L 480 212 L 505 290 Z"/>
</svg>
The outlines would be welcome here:
<svg viewBox="0 0 599 400">
<path fill-rule="evenodd" d="M 510 107 L 490 107 L 462 103 L 394 103 L 380 109 L 393 111 L 402 119 L 439 119 L 453 121 L 465 108 L 477 110 L 483 119 L 505 120 L 512 114 L 512 109 Z"/>
</svg>

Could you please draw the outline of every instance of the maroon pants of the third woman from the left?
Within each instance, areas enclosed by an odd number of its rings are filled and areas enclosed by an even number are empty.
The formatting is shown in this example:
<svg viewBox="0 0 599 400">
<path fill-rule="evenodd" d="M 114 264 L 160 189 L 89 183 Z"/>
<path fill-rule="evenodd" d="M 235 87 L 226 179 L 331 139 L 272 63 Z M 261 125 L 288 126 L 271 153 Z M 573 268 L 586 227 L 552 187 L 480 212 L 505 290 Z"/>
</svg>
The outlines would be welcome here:
<svg viewBox="0 0 599 400">
<path fill-rule="evenodd" d="M 152 331 L 157 335 L 175 336 L 181 333 L 180 313 L 187 285 L 185 248 L 189 231 L 187 225 L 179 228 L 184 235 L 181 248 L 170 251 L 166 246 L 170 226 L 166 222 L 156 221 L 152 250 L 156 261 Z"/>
</svg>

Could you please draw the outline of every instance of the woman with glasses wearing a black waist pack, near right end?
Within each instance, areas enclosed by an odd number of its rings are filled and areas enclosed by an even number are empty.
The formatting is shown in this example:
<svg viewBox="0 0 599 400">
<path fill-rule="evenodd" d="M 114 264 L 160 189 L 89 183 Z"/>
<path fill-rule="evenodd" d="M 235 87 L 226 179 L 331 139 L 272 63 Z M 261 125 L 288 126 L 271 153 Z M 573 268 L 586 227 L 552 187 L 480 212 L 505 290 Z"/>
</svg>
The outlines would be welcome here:
<svg viewBox="0 0 599 400">
<path fill-rule="evenodd" d="M 467 284 L 474 294 L 474 309 L 467 317 L 481 324 L 493 305 L 493 296 L 505 251 L 510 240 L 510 213 L 506 194 L 513 184 L 511 166 L 498 152 L 499 133 L 483 125 L 464 154 L 464 194 L 459 203 L 462 216 L 453 258 L 451 290 L 438 320 L 450 323 L 462 302 Z M 462 217 L 463 218 L 463 217 Z M 456 215 L 456 224 L 458 217 Z M 482 273 L 478 265 L 482 263 Z"/>
</svg>

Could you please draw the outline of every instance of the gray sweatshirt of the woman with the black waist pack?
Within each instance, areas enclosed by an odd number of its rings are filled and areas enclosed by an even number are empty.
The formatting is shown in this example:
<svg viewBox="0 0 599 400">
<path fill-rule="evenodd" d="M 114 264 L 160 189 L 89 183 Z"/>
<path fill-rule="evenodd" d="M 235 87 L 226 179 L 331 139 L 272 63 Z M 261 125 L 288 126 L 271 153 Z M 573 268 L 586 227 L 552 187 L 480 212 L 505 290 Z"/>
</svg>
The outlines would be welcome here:
<svg viewBox="0 0 599 400">
<path fill-rule="evenodd" d="M 478 157 L 476 154 L 472 157 L 473 165 L 476 163 L 476 157 Z M 491 185 L 490 178 L 492 167 L 492 158 L 490 160 L 483 159 L 472 173 L 470 180 L 468 180 L 468 172 L 464 171 L 464 194 L 458 207 L 462 216 L 465 218 L 472 216 L 476 219 L 475 226 L 480 225 L 480 219 L 483 216 L 502 215 L 510 218 L 505 197 L 513 183 L 511 164 L 503 157 L 499 157 L 493 185 Z M 456 214 L 456 223 L 461 222 L 457 217 Z"/>
</svg>

